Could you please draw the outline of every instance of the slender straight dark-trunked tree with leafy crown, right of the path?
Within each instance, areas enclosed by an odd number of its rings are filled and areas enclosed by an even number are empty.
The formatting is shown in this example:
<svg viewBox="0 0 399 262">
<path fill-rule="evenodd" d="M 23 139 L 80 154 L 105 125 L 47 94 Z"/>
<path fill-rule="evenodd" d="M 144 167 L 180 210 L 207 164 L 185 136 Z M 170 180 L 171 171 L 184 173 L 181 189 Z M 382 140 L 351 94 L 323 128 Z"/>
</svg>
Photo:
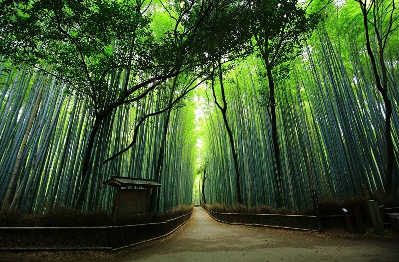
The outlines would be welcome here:
<svg viewBox="0 0 399 262">
<path fill-rule="evenodd" d="M 302 52 L 304 41 L 316 28 L 321 15 L 318 12 L 308 14 L 304 7 L 298 5 L 298 0 L 253 1 L 249 4 L 248 13 L 251 18 L 250 30 L 255 38 L 258 56 L 262 59 L 268 80 L 268 92 L 262 91 L 263 94 L 268 93 L 268 98 L 263 104 L 266 105 L 271 123 L 277 205 L 283 206 L 284 189 L 277 131 L 275 80 L 287 78 L 289 67 L 284 63 L 292 61 Z M 275 77 L 276 75 L 278 77 Z"/>
</svg>

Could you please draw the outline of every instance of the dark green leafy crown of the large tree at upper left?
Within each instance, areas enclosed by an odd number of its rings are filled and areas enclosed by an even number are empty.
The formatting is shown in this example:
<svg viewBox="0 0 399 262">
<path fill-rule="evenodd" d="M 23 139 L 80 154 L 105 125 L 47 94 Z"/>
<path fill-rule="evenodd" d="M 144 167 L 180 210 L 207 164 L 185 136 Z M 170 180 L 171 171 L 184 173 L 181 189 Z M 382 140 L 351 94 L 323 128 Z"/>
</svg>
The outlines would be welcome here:
<svg viewBox="0 0 399 262">
<path fill-rule="evenodd" d="M 140 7 L 134 1 L 24 1 L 4 13 L 0 53 L 32 66 L 46 62 L 51 67 L 41 70 L 55 70 L 70 93 L 89 96 L 98 111 L 113 91 L 105 83 L 109 73 L 153 72 L 162 51 Z"/>
</svg>

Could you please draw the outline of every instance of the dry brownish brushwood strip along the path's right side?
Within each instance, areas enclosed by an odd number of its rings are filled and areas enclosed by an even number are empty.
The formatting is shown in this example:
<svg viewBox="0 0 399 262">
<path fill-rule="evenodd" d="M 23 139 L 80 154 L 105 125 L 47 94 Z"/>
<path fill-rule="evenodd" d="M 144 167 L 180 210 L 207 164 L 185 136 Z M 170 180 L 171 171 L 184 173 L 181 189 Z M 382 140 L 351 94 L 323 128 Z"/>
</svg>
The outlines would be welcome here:
<svg viewBox="0 0 399 262">
<path fill-rule="evenodd" d="M 379 194 L 373 194 L 372 200 L 376 200 L 379 206 L 384 208 L 399 207 L 399 198 L 397 197 L 382 197 Z M 315 216 L 316 210 L 313 205 L 307 207 L 305 210 L 295 211 L 286 208 L 273 209 L 269 206 L 253 206 L 247 207 L 244 205 L 226 206 L 219 203 L 205 205 L 212 212 L 219 213 L 239 213 L 239 214 L 280 214 L 280 215 L 307 215 Z M 345 208 L 349 213 L 353 213 L 354 207 L 360 207 L 363 211 L 366 208 L 366 201 L 360 197 L 345 198 L 343 200 L 337 199 L 321 199 L 319 200 L 320 215 L 342 215 L 342 209 Z"/>
</svg>

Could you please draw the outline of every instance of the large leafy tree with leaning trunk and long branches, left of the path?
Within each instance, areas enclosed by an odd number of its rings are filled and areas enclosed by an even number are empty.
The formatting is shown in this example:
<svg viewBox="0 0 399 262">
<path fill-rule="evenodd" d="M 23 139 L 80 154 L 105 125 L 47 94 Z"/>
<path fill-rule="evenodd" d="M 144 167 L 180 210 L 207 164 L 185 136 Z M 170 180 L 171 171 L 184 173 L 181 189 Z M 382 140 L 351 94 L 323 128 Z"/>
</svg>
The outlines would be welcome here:
<svg viewBox="0 0 399 262">
<path fill-rule="evenodd" d="M 81 166 L 77 168 L 81 176 L 73 179 L 78 185 L 68 207 L 82 207 L 85 194 L 92 189 L 92 185 L 89 186 L 92 170 L 96 170 L 96 175 L 101 174 L 103 164 L 131 148 L 147 118 L 171 110 L 175 105 L 184 105 L 179 100 L 196 86 L 194 83 L 200 83 L 196 80 L 206 69 L 201 72 L 197 66 L 204 63 L 188 55 L 192 48 L 188 45 L 195 46 L 199 41 L 199 26 L 181 27 L 183 16 L 191 11 L 191 7 L 178 11 L 180 17 L 176 20 L 175 29 L 165 28 L 165 36 L 159 37 L 154 35 L 150 26 L 150 6 L 145 1 L 69 0 L 52 4 L 52 1 L 40 0 L 7 6 L 1 24 L 4 37 L 0 39 L 3 47 L 0 53 L 6 59 L 33 67 L 38 67 L 37 63 L 46 64 L 39 69 L 66 84 L 63 92 L 86 98 L 88 102 L 93 122 L 83 134 L 86 140 L 77 141 L 84 144 L 85 149 L 78 156 Z M 161 92 L 163 83 L 184 71 L 191 72 L 186 75 L 188 80 L 178 92 L 172 92 L 171 100 L 167 99 L 170 102 L 152 107 L 151 104 L 157 100 L 155 90 Z M 136 121 L 131 124 L 134 126 L 133 141 L 128 146 L 124 146 L 126 142 L 122 143 L 109 152 L 111 156 L 108 157 L 104 150 L 108 141 L 106 133 L 109 132 L 106 130 L 112 128 L 117 109 L 128 104 L 149 104 L 152 111 L 148 114 L 133 112 L 136 114 Z M 142 113 L 147 111 L 144 107 L 140 110 Z M 69 135 L 66 137 L 69 139 Z M 103 144 L 99 142 L 101 139 Z M 64 149 L 66 154 L 67 146 Z M 77 172 L 75 169 L 75 176 Z M 16 175 L 13 174 L 13 180 Z M 10 184 L 10 190 L 13 186 Z M 51 196 L 52 202 L 55 192 Z"/>
</svg>

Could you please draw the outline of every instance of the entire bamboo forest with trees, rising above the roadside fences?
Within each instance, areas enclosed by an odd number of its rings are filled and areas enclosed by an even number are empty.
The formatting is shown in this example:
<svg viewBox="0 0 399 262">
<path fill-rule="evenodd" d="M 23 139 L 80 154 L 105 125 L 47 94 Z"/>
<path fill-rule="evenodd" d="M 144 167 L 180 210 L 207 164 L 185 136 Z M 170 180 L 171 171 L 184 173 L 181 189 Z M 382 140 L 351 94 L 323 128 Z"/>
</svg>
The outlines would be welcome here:
<svg viewBox="0 0 399 262">
<path fill-rule="evenodd" d="M 0 0 L 0 206 L 399 193 L 395 0 Z"/>
</svg>

